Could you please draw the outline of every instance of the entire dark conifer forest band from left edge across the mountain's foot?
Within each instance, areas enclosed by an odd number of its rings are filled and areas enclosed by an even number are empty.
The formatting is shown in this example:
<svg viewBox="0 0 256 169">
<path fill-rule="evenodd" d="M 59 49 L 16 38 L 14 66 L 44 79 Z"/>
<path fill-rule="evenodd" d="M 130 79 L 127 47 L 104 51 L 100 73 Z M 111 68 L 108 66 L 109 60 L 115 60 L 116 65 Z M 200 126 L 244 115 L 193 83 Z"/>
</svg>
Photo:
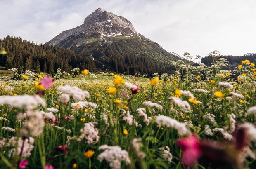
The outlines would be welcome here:
<svg viewBox="0 0 256 169">
<path fill-rule="evenodd" d="M 173 66 L 170 63 L 160 63 L 147 56 L 126 55 L 120 56 L 112 52 L 103 63 L 105 66 L 96 66 L 97 61 L 93 61 L 89 54 L 76 54 L 73 50 L 65 49 L 57 45 L 40 44 L 22 40 L 20 37 L 10 37 L 0 39 L 0 47 L 3 47 L 7 54 L 1 56 L 0 66 L 19 68 L 19 71 L 35 70 L 36 72 L 56 73 L 58 68 L 71 72 L 73 68 L 83 70 L 87 68 L 90 72 L 113 71 L 126 75 L 135 73 L 153 74 L 173 73 Z M 100 55 L 100 53 L 98 54 Z"/>
</svg>

